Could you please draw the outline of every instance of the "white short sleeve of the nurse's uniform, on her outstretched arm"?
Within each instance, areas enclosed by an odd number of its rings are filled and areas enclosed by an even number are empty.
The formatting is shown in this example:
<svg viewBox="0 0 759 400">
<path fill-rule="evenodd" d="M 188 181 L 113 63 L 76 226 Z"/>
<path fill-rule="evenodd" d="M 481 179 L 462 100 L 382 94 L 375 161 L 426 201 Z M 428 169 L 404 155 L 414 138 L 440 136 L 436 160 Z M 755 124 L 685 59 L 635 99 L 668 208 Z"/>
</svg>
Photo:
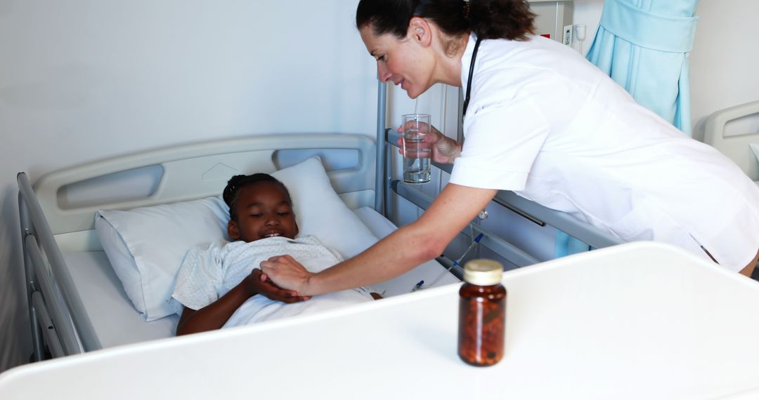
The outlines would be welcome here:
<svg viewBox="0 0 759 400">
<path fill-rule="evenodd" d="M 450 182 L 480 189 L 524 189 L 548 132 L 543 113 L 527 98 L 477 110 L 465 121 L 464 146 Z"/>
</svg>

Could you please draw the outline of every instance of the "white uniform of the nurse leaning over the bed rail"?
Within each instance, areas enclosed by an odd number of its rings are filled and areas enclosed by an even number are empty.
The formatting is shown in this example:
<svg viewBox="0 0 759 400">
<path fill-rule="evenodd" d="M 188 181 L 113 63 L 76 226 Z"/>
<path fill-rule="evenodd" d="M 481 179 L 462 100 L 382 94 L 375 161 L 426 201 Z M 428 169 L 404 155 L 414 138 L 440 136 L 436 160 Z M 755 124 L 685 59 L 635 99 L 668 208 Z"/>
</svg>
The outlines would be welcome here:
<svg viewBox="0 0 759 400">
<path fill-rule="evenodd" d="M 466 84 L 476 38 L 461 58 Z M 540 36 L 483 40 L 451 182 L 512 190 L 625 241 L 656 240 L 741 270 L 759 249 L 759 189 L 716 149 L 638 105 Z"/>
</svg>

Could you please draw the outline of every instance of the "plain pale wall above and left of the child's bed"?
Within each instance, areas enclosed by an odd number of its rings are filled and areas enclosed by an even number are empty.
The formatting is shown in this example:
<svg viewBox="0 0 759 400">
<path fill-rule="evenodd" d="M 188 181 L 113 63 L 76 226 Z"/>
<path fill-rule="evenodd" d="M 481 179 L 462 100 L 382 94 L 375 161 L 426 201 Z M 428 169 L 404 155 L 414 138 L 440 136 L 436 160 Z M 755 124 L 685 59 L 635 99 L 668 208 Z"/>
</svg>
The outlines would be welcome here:
<svg viewBox="0 0 759 400">
<path fill-rule="evenodd" d="M 230 136 L 373 136 L 356 5 L 0 0 L 0 370 L 30 354 L 16 173 Z"/>
</svg>

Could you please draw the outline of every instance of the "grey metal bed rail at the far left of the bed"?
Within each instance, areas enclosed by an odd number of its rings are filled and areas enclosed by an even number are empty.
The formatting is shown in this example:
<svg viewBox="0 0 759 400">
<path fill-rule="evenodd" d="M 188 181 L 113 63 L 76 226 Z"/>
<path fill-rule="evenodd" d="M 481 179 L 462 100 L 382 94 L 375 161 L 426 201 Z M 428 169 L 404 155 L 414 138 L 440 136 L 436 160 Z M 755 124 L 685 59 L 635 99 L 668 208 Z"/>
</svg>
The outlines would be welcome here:
<svg viewBox="0 0 759 400">
<path fill-rule="evenodd" d="M 16 177 L 34 359 L 102 348 L 26 173 Z M 61 301 L 62 297 L 62 301 Z M 44 339 L 44 341 L 43 341 Z"/>
</svg>

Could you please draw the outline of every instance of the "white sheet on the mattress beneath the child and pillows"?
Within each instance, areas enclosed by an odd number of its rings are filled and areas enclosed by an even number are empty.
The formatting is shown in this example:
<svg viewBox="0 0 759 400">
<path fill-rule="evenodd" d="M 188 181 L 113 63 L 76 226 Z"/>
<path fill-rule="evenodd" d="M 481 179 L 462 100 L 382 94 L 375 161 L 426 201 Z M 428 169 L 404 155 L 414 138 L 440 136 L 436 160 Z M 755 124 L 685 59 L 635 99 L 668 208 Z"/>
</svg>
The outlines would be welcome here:
<svg viewBox="0 0 759 400">
<path fill-rule="evenodd" d="M 397 229 L 392 222 L 372 208 L 359 208 L 354 210 L 354 214 L 378 238 L 383 238 Z M 104 348 L 174 336 L 179 317 L 171 316 L 146 322 L 129 302 L 105 252 L 64 252 L 63 256 L 69 266 L 74 286 L 80 293 L 84 308 Z M 443 271 L 443 267 L 436 261 L 428 261 L 400 277 L 378 283 L 371 289 L 385 292 L 386 297 L 400 295 L 410 292 L 414 284 L 420 280 L 431 282 Z M 453 275 L 446 273 L 436 286 L 457 282 Z"/>
</svg>

